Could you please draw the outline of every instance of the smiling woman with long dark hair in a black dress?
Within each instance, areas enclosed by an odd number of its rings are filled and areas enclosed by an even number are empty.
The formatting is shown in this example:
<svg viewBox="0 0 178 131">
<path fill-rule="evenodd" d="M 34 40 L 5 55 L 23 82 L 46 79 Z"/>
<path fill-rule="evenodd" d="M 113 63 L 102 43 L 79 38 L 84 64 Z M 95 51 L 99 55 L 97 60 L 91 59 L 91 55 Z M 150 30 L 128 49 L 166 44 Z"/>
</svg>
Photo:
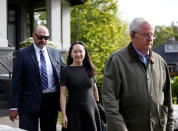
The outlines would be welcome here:
<svg viewBox="0 0 178 131">
<path fill-rule="evenodd" d="M 99 101 L 94 75 L 96 70 L 85 45 L 74 42 L 61 73 L 60 105 L 63 131 L 101 131 Z M 68 102 L 66 106 L 66 92 Z"/>
</svg>

